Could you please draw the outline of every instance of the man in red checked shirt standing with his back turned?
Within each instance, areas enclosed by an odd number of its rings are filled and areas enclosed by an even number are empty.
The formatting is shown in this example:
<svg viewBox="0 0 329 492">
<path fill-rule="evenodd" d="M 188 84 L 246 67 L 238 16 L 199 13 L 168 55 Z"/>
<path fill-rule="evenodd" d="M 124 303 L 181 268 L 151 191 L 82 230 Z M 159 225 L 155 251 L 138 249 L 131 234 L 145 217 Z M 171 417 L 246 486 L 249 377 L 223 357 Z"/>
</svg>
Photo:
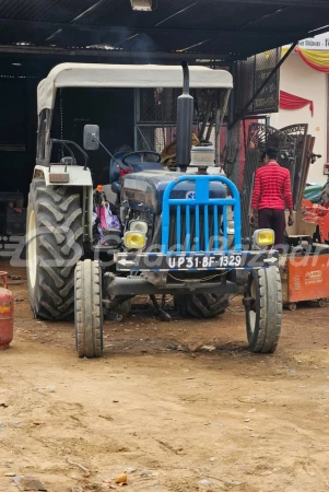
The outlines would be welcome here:
<svg viewBox="0 0 329 492">
<path fill-rule="evenodd" d="M 267 149 L 263 153 L 263 166 L 256 171 L 249 222 L 255 223 L 255 210 L 258 210 L 259 229 L 272 229 L 275 233 L 275 245 L 283 251 L 285 230 L 285 208 L 289 209 L 289 225 L 293 225 L 293 197 L 289 169 L 277 162 L 275 149 Z"/>
</svg>

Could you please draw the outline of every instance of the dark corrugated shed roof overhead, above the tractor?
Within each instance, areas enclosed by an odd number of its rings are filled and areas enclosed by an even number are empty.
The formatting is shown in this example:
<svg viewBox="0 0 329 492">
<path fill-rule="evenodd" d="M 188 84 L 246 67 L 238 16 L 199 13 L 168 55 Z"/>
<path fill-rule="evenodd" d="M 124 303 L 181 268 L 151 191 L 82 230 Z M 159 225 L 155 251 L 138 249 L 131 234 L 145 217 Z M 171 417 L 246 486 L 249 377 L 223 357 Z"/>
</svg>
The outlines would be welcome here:
<svg viewBox="0 0 329 492">
<path fill-rule="evenodd" d="M 240 59 L 307 37 L 326 20 L 328 0 L 153 0 L 152 12 L 130 0 L 2 0 L 0 45 Z"/>
</svg>

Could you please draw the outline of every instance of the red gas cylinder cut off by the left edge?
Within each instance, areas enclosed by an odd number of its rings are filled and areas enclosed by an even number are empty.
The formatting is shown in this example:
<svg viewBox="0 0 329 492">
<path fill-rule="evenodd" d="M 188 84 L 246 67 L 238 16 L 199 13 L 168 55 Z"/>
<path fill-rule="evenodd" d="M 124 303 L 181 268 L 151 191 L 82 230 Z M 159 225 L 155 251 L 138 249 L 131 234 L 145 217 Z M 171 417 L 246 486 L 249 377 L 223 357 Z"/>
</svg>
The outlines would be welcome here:
<svg viewBox="0 0 329 492">
<path fill-rule="evenodd" d="M 0 288 L 0 350 L 9 348 L 14 333 L 14 298 L 7 289 L 7 271 L 0 271 L 3 288 Z"/>
</svg>

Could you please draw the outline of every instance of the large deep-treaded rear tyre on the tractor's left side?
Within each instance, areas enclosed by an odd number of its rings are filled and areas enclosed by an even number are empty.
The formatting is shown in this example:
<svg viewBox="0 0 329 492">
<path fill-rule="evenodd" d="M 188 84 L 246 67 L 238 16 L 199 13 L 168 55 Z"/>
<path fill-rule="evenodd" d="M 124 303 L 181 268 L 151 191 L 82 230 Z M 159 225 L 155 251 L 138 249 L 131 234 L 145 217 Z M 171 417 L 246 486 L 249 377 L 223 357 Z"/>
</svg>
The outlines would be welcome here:
<svg viewBox="0 0 329 492">
<path fill-rule="evenodd" d="M 34 317 L 73 317 L 74 267 L 82 256 L 83 230 L 77 188 L 32 181 L 27 208 L 27 286 Z"/>
</svg>

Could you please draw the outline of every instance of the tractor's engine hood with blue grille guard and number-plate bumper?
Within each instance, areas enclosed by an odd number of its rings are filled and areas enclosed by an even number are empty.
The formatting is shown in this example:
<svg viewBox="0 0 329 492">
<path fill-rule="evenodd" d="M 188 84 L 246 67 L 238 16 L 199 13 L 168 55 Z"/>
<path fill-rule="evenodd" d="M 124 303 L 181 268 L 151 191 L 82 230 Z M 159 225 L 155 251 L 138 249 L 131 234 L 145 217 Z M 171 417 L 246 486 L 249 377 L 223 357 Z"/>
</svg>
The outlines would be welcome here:
<svg viewBox="0 0 329 492">
<path fill-rule="evenodd" d="M 243 247 L 239 192 L 224 176 L 130 174 L 124 179 L 121 198 L 125 216 L 148 222 L 149 241 L 141 251 L 116 254 L 119 271 L 192 272 L 268 268 L 278 263 L 275 250 Z M 232 212 L 230 227 L 234 234 L 232 231 L 228 234 Z"/>
</svg>

